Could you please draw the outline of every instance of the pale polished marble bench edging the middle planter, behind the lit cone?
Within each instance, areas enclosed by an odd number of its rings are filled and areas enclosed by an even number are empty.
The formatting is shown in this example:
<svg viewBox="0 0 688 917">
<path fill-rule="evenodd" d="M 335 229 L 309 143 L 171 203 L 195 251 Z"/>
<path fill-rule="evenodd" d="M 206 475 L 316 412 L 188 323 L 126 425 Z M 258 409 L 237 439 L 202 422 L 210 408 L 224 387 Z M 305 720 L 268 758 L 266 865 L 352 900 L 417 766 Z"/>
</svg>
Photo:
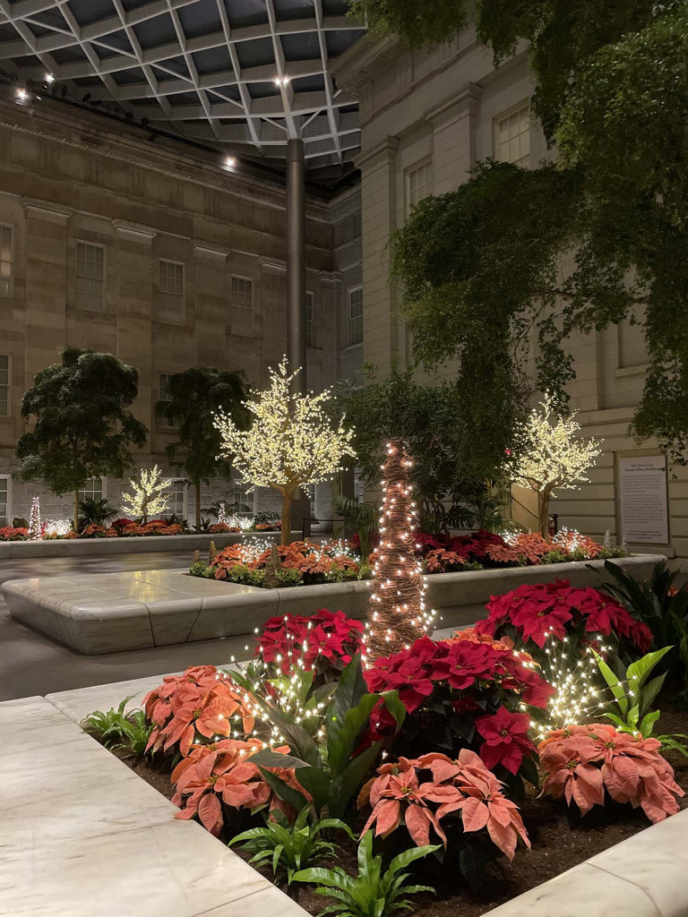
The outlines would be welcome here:
<svg viewBox="0 0 688 917">
<path fill-rule="evenodd" d="M 661 559 L 637 555 L 616 563 L 642 580 Z M 521 583 L 568 579 L 574 586 L 598 586 L 603 563 L 592 566 L 434 574 L 427 577 L 427 606 L 442 619 L 438 626 L 472 624 L 484 616 L 490 596 Z M 356 581 L 265 590 L 203 580 L 176 569 L 38 577 L 3 585 L 13 618 L 88 655 L 250 634 L 275 615 L 312 614 L 321 608 L 362 619 L 370 589 L 370 581 Z"/>
</svg>

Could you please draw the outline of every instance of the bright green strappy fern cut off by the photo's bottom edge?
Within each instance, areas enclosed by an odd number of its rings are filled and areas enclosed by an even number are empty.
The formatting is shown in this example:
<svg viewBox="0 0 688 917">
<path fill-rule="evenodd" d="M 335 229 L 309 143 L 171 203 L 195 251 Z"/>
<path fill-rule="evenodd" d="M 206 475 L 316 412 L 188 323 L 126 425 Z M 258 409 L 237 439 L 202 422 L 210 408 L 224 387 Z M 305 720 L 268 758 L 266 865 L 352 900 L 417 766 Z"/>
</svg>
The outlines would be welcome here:
<svg viewBox="0 0 688 917">
<path fill-rule="evenodd" d="M 383 872 L 383 857 L 372 856 L 372 831 L 366 832 L 359 844 L 358 876 L 351 877 L 343 869 L 302 869 L 292 877 L 294 882 L 317 882 L 316 895 L 335 899 L 318 917 L 338 914 L 339 917 L 390 917 L 396 911 L 412 911 L 413 907 L 403 895 L 416 895 L 420 891 L 435 889 L 428 885 L 406 885 L 410 873 L 405 868 L 414 860 L 433 853 L 439 845 L 412 847 L 394 856 Z"/>
</svg>

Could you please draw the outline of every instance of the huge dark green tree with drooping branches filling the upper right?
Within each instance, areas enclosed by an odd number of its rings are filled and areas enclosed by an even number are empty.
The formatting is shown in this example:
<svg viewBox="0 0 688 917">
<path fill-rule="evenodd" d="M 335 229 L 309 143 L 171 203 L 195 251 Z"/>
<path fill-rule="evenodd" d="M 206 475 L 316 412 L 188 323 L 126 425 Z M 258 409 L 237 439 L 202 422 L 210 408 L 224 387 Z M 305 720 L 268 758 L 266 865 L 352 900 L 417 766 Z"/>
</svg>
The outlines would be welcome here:
<svg viewBox="0 0 688 917">
<path fill-rule="evenodd" d="M 421 359 L 437 365 L 459 357 L 466 392 L 501 383 L 512 405 L 523 397 L 534 337 L 538 388 L 565 403 L 571 335 L 637 320 L 649 369 L 631 431 L 655 436 L 684 464 L 684 0 L 360 0 L 357 7 L 372 28 L 414 47 L 453 39 L 471 15 L 495 63 L 525 40 L 536 80 L 531 110 L 556 154 L 556 165 L 532 170 L 483 162 L 455 192 L 422 202 L 396 234 L 393 273 Z M 562 277 L 571 256 L 575 266 Z"/>
</svg>

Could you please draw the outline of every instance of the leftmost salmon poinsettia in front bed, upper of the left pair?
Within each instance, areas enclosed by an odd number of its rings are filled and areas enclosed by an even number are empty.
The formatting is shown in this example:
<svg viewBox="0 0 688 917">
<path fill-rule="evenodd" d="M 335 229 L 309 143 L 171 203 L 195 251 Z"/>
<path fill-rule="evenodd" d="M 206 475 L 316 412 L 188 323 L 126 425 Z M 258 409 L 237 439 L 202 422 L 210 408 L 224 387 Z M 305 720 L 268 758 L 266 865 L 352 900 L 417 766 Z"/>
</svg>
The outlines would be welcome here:
<svg viewBox="0 0 688 917">
<path fill-rule="evenodd" d="M 153 724 L 146 750 L 180 751 L 186 757 L 195 742 L 237 733 L 255 725 L 257 704 L 239 685 L 215 666 L 187 668 L 183 675 L 162 679 L 146 695 L 143 709 Z"/>
</svg>

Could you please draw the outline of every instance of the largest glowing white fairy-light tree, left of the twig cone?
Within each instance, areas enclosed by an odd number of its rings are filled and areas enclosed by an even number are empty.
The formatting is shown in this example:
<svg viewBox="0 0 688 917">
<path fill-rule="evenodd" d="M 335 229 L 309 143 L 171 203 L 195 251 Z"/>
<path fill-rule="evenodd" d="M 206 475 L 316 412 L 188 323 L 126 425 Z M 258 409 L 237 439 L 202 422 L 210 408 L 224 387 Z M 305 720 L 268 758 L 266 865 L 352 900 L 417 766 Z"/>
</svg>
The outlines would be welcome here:
<svg viewBox="0 0 688 917">
<path fill-rule="evenodd" d="M 327 481 L 342 470 L 342 459 L 354 456 L 353 430 L 343 418 L 333 423 L 323 406 L 331 400 L 331 390 L 292 394 L 291 375 L 286 357 L 277 370 L 270 370 L 270 385 L 254 392 L 248 408 L 252 423 L 240 430 L 228 414 L 216 414 L 216 427 L 222 436 L 221 457 L 230 458 L 250 488 L 272 487 L 282 494 L 282 544 L 289 543 L 294 493 L 307 484 Z"/>
</svg>

